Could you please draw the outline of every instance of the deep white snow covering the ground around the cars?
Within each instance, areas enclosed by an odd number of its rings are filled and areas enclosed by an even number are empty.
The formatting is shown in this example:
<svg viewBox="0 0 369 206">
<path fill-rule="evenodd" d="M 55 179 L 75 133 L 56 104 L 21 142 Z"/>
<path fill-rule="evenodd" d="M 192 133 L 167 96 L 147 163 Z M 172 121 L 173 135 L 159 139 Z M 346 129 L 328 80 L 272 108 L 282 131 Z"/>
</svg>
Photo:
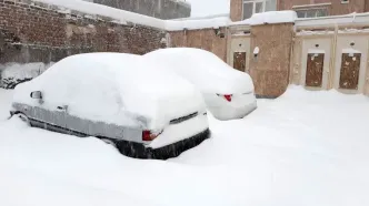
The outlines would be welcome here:
<svg viewBox="0 0 369 206">
<path fill-rule="evenodd" d="M 243 120 L 210 117 L 212 138 L 167 162 L 8 121 L 10 96 L 0 90 L 1 206 L 369 205 L 362 95 L 291 86 Z"/>
</svg>

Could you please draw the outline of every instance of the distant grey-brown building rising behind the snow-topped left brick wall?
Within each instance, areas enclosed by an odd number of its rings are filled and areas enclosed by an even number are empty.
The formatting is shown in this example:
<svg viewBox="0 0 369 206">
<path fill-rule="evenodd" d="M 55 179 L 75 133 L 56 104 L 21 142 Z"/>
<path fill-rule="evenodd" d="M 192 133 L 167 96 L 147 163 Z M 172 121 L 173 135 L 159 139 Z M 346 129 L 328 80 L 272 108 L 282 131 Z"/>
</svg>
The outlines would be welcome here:
<svg viewBox="0 0 369 206">
<path fill-rule="evenodd" d="M 191 4 L 184 0 L 86 0 L 158 19 L 179 19 L 191 16 Z"/>
</svg>

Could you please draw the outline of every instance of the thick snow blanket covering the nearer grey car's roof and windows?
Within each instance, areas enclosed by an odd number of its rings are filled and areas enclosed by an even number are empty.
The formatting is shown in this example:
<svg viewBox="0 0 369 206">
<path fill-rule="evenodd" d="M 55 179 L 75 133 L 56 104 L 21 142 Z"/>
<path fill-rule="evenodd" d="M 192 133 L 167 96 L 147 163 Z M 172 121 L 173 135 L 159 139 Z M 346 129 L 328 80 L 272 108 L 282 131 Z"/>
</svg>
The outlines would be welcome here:
<svg viewBox="0 0 369 206">
<path fill-rule="evenodd" d="M 71 115 L 153 130 L 205 110 L 201 94 L 190 83 L 156 68 L 149 70 L 150 66 L 142 56 L 133 54 L 72 55 L 32 81 L 19 84 L 14 102 L 39 105 L 29 94 L 42 91 L 42 106 L 48 110 L 68 105 Z M 180 104 L 183 105 L 179 107 Z M 137 123 L 124 117 L 128 115 L 151 120 Z"/>
</svg>

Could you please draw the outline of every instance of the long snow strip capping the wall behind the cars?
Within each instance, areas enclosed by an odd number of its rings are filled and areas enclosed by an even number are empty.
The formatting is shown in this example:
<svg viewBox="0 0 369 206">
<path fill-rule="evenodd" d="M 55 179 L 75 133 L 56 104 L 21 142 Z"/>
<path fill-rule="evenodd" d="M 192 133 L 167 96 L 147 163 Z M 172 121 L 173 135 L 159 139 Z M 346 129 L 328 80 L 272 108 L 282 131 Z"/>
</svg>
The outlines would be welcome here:
<svg viewBox="0 0 369 206">
<path fill-rule="evenodd" d="M 206 19 L 178 19 L 178 20 L 161 20 L 130 11 L 124 11 L 108 6 L 97 4 L 89 1 L 81 0 L 33 0 L 36 2 L 48 3 L 43 7 L 52 8 L 57 6 L 60 12 L 69 13 L 71 10 L 79 11 L 91 16 L 108 17 L 122 24 L 137 23 L 141 25 L 152 27 L 166 31 L 178 30 L 195 30 L 206 28 L 219 28 L 236 24 L 257 25 L 265 23 L 282 23 L 295 22 L 297 14 L 295 11 L 270 11 L 263 13 L 256 13 L 250 19 L 239 22 L 232 22 L 229 17 L 213 17 Z M 186 2 L 188 3 L 188 2 Z M 38 3 L 40 4 L 40 3 Z M 41 4 L 42 7 L 42 4 Z M 54 8 L 53 8 L 54 9 Z"/>
</svg>

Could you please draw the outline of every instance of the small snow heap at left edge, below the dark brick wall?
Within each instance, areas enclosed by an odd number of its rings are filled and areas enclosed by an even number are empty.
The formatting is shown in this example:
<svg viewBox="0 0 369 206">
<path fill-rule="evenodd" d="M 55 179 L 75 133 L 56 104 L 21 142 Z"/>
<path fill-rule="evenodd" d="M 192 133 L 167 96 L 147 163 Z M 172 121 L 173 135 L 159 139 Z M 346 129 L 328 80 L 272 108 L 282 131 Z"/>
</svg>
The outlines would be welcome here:
<svg viewBox="0 0 369 206">
<path fill-rule="evenodd" d="M 52 64 L 53 63 L 44 64 L 42 62 L 2 64 L 0 65 L 1 87 L 14 89 L 17 84 L 30 81 L 40 75 Z"/>
</svg>

